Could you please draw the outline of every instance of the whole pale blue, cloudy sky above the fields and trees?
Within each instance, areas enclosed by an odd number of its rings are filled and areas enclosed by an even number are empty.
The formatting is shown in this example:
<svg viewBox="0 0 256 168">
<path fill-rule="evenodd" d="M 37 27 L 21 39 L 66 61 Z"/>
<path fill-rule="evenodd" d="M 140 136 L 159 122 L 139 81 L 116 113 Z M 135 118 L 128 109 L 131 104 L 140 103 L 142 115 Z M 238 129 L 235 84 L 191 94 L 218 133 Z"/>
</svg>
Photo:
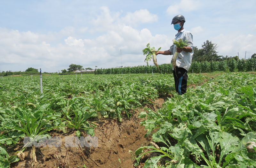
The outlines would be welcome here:
<svg viewBox="0 0 256 168">
<path fill-rule="evenodd" d="M 256 52 L 255 6 L 255 0 L 0 1 L 0 72 L 147 65 L 142 50 L 148 42 L 168 50 L 178 14 L 198 49 L 209 40 L 218 55 L 248 58 Z M 157 62 L 171 58 L 157 55 Z"/>
</svg>

